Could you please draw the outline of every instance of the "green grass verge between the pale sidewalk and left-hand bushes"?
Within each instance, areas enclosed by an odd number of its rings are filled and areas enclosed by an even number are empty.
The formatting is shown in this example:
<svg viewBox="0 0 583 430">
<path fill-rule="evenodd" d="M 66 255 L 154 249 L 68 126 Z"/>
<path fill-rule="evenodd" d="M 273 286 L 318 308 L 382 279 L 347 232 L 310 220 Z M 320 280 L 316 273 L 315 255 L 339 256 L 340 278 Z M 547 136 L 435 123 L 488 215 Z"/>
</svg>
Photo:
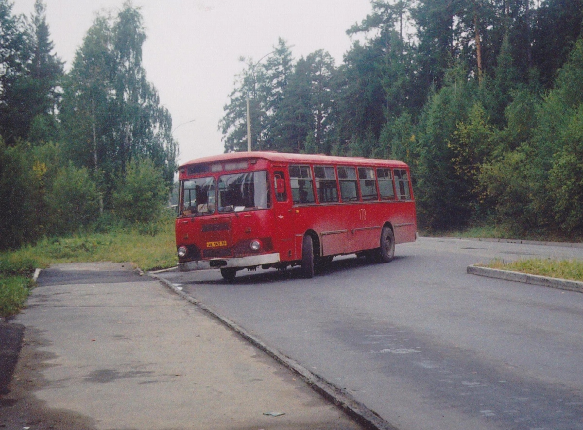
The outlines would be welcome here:
<svg viewBox="0 0 583 430">
<path fill-rule="evenodd" d="M 0 252 L 0 316 L 22 309 L 32 287 L 36 267 L 52 263 L 113 262 L 133 263 L 142 270 L 177 265 L 174 221 L 167 220 L 154 231 L 144 228 L 110 233 L 49 238 L 12 252 Z"/>
</svg>

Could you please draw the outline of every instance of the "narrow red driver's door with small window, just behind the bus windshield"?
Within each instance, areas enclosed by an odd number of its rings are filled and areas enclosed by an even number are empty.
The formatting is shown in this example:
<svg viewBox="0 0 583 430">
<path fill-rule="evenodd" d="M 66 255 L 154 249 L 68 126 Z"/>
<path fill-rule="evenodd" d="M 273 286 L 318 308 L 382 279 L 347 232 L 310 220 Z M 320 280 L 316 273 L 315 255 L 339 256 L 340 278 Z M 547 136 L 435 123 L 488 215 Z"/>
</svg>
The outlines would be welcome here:
<svg viewBox="0 0 583 430">
<path fill-rule="evenodd" d="M 279 249 L 279 258 L 282 261 L 293 261 L 298 258 L 294 246 L 294 211 L 291 207 L 291 190 L 287 186 L 285 170 L 273 172 L 273 188 L 275 190 L 275 232 L 274 245 Z"/>
</svg>

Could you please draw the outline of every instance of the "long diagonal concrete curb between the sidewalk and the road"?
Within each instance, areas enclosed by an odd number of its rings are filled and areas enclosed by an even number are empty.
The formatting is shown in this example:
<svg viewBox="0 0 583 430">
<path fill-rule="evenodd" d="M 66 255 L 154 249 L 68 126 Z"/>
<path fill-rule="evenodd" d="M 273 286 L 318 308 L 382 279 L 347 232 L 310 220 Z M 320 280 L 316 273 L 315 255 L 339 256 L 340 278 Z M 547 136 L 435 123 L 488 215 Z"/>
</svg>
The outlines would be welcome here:
<svg viewBox="0 0 583 430">
<path fill-rule="evenodd" d="M 297 361 L 280 353 L 280 351 L 276 350 L 275 348 L 267 346 L 258 337 L 255 337 L 253 334 L 247 332 L 247 330 L 243 329 L 243 327 L 238 326 L 230 319 L 225 318 L 222 315 L 219 315 L 218 313 L 210 309 L 205 304 L 202 304 L 195 298 L 190 297 L 184 291 L 181 291 L 179 288 L 175 287 L 174 284 L 172 284 L 170 281 L 163 279 L 152 272 L 148 272 L 147 276 L 159 280 L 162 284 L 164 284 L 164 286 L 170 288 L 170 290 L 180 295 L 180 297 L 198 306 L 199 309 L 208 313 L 213 318 L 219 320 L 221 323 L 223 323 L 223 325 L 227 326 L 229 329 L 239 334 L 241 337 L 243 337 L 243 339 L 250 342 L 253 346 L 264 351 L 272 358 L 275 358 L 278 362 L 286 366 L 288 369 L 291 369 L 292 371 L 296 372 L 305 382 L 308 383 L 308 385 L 312 387 L 312 389 L 321 394 L 321 396 L 324 396 L 326 399 L 332 401 L 334 404 L 336 404 L 336 406 L 342 408 L 348 415 L 350 415 L 350 417 L 354 418 L 360 424 L 364 425 L 364 427 L 371 430 L 398 430 L 398 428 L 396 428 L 394 425 L 391 425 L 389 422 L 385 421 L 383 418 L 380 417 L 380 415 L 375 413 L 373 410 L 370 410 L 363 403 L 360 403 L 360 401 L 354 399 L 349 393 L 346 392 L 346 390 L 343 390 L 342 388 L 334 385 L 333 383 L 322 378 L 321 376 L 318 376 L 315 373 L 310 372 L 308 369 L 299 364 Z"/>
</svg>

